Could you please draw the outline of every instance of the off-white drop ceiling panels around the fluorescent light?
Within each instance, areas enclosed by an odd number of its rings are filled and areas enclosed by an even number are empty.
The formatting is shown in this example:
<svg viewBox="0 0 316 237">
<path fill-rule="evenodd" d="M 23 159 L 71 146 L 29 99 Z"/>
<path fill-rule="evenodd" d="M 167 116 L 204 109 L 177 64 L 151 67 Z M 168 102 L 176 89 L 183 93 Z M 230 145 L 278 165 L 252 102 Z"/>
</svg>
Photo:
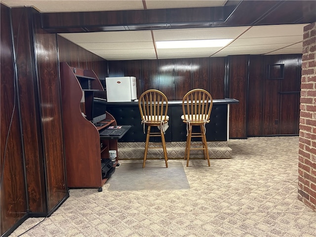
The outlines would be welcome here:
<svg viewBox="0 0 316 237">
<path fill-rule="evenodd" d="M 223 6 L 227 0 L 1 0 L 40 12 L 103 11 Z M 307 24 L 59 34 L 106 60 L 222 57 L 240 54 L 302 53 Z M 225 47 L 156 49 L 159 40 L 234 39 Z"/>
</svg>

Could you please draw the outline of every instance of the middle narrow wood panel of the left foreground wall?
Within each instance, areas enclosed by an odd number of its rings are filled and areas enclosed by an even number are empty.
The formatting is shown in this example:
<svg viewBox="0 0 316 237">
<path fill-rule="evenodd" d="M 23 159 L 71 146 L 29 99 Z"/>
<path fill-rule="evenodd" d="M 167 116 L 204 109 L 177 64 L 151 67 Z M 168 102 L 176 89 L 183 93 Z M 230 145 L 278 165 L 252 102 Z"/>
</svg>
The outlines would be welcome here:
<svg viewBox="0 0 316 237">
<path fill-rule="evenodd" d="M 29 208 L 32 212 L 45 212 L 45 181 L 38 89 L 35 73 L 32 27 L 29 17 L 31 8 L 12 8 L 12 26 L 15 36 L 17 75 L 21 108 L 24 153 L 27 170 Z M 16 17 L 15 17 L 16 16 Z"/>
</svg>

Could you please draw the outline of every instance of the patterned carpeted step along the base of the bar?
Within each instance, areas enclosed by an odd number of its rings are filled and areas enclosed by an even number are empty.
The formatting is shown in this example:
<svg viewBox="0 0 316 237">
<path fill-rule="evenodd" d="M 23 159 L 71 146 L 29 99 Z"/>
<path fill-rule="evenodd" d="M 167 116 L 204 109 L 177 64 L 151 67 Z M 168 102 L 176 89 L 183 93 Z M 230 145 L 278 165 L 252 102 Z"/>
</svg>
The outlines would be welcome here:
<svg viewBox="0 0 316 237">
<path fill-rule="evenodd" d="M 232 158 L 232 149 L 228 141 L 207 142 L 210 159 Z M 160 146 L 160 144 L 158 144 Z M 186 142 L 166 142 L 168 159 L 183 159 Z M 202 147 L 201 142 L 191 142 L 191 147 Z M 143 159 L 145 142 L 118 142 L 118 159 Z M 161 149 L 148 149 L 147 158 L 163 159 Z M 202 150 L 191 150 L 190 159 L 204 158 Z"/>
</svg>

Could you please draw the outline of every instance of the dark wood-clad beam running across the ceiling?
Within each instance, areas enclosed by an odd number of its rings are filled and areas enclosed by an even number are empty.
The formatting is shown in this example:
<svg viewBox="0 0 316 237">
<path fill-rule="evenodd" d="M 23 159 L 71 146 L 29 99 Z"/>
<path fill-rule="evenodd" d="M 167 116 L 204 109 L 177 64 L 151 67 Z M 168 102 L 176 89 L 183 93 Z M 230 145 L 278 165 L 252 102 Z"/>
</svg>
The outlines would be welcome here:
<svg viewBox="0 0 316 237">
<path fill-rule="evenodd" d="M 43 13 L 42 25 L 66 33 L 300 24 L 315 22 L 315 12 L 309 0 L 229 0 L 216 7 Z"/>
</svg>

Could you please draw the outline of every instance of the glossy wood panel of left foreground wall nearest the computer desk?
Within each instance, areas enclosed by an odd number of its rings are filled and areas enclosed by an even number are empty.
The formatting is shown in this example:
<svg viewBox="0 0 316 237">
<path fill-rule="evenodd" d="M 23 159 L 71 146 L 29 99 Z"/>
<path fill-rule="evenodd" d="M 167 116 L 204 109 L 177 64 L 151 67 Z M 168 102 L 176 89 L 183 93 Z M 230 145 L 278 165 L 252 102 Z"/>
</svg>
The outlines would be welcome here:
<svg viewBox="0 0 316 237">
<path fill-rule="evenodd" d="M 62 130 L 62 109 L 57 38 L 40 29 L 40 14 L 34 12 L 34 40 L 38 84 L 44 167 L 46 175 L 47 211 L 67 194 L 66 166 Z"/>
</svg>

